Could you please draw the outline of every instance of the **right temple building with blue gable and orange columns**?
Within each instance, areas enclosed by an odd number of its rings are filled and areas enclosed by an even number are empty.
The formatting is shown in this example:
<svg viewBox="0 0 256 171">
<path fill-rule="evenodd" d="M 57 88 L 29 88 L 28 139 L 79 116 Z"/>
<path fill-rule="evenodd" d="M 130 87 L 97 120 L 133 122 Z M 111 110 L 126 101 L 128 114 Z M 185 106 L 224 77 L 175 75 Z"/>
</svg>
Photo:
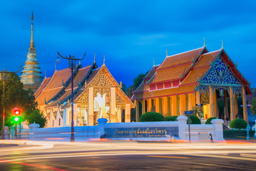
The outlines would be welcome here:
<svg viewBox="0 0 256 171">
<path fill-rule="evenodd" d="M 250 83 L 238 71 L 223 48 L 208 51 L 205 46 L 173 56 L 166 54 L 159 66 L 153 66 L 143 82 L 133 92 L 136 121 L 148 111 L 164 116 L 182 115 L 196 106 L 206 119 L 237 118 L 237 97 L 242 97 L 243 118 L 248 122 L 246 95 L 252 94 Z M 224 101 L 224 113 L 219 113 L 217 100 Z M 230 109 L 227 110 L 227 99 Z"/>
</svg>

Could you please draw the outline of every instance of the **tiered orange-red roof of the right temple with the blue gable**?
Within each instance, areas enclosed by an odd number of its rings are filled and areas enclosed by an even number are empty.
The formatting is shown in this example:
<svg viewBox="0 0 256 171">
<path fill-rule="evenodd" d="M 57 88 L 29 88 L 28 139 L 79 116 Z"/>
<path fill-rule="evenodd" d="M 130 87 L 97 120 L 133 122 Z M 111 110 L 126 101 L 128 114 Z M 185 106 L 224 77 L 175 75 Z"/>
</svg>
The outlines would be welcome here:
<svg viewBox="0 0 256 171">
<path fill-rule="evenodd" d="M 205 47 L 202 47 L 166 56 L 163 63 L 155 69 L 153 76 L 148 81 L 143 80 L 133 92 L 132 100 L 195 93 L 199 85 L 198 81 L 205 76 L 218 56 L 225 61 L 233 75 L 245 86 L 247 94 L 251 94 L 248 81 L 240 74 L 223 49 L 208 52 Z"/>
</svg>

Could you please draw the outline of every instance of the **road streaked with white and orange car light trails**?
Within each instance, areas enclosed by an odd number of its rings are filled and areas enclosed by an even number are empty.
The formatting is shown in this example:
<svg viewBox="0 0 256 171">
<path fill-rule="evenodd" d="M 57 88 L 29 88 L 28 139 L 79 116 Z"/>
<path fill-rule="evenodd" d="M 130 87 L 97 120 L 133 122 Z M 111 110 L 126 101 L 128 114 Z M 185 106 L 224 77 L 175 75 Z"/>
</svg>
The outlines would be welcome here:
<svg viewBox="0 0 256 171">
<path fill-rule="evenodd" d="M 256 170 L 251 142 L 6 142 L 0 170 Z"/>
</svg>

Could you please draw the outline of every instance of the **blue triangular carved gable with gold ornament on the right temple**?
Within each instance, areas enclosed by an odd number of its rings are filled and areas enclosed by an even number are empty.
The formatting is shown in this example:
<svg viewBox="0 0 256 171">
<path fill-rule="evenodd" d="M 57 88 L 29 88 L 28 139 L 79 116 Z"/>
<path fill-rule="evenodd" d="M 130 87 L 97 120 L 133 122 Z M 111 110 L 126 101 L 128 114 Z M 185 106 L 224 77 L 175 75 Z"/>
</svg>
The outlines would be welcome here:
<svg viewBox="0 0 256 171">
<path fill-rule="evenodd" d="M 240 84 L 220 56 L 216 58 L 210 71 L 208 71 L 200 83 Z"/>
</svg>

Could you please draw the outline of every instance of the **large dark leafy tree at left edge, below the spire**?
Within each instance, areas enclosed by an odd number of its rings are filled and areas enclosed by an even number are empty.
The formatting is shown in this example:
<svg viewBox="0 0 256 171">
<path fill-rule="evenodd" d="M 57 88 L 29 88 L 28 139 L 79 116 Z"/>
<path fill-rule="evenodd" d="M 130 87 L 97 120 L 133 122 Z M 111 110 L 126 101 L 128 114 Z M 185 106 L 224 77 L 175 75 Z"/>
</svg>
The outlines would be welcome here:
<svg viewBox="0 0 256 171">
<path fill-rule="evenodd" d="M 23 116 L 29 115 L 31 111 L 36 110 L 37 103 L 35 101 L 32 90 L 24 90 L 23 83 L 21 83 L 19 76 L 16 73 L 9 73 L 9 78 L 5 81 L 0 81 L 0 130 L 3 123 L 3 106 L 5 107 L 5 123 L 9 123 L 12 118 L 12 109 L 19 108 Z M 5 90 L 4 90 L 5 88 Z M 5 95 L 4 93 L 5 92 Z"/>
</svg>

